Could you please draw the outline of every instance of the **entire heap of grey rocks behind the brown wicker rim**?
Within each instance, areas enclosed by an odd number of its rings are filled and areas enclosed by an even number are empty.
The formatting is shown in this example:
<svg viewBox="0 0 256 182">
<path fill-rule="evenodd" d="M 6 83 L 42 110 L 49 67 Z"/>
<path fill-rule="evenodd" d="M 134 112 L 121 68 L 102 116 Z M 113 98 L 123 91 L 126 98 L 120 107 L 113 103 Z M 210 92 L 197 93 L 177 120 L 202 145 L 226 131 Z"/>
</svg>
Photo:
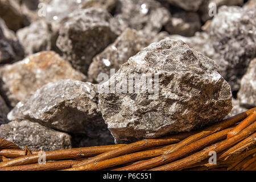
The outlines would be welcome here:
<svg viewBox="0 0 256 182">
<path fill-rule="evenodd" d="M 0 137 L 46 151 L 127 143 L 255 107 L 255 11 L 254 0 L 0 0 Z"/>
</svg>

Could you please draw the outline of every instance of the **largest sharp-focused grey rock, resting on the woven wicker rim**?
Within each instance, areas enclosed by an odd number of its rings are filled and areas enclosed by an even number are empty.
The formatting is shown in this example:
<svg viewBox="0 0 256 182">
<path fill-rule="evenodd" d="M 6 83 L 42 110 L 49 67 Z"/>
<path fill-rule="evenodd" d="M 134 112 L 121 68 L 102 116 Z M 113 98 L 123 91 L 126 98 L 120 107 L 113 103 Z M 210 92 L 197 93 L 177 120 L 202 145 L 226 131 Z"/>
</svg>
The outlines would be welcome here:
<svg viewBox="0 0 256 182">
<path fill-rule="evenodd" d="M 131 79 L 135 73 L 141 75 Z M 151 86 L 143 84 L 146 77 Z M 220 121 L 232 109 L 232 94 L 213 60 L 180 40 L 164 39 L 130 57 L 101 85 L 99 107 L 115 142 L 123 143 Z"/>
</svg>

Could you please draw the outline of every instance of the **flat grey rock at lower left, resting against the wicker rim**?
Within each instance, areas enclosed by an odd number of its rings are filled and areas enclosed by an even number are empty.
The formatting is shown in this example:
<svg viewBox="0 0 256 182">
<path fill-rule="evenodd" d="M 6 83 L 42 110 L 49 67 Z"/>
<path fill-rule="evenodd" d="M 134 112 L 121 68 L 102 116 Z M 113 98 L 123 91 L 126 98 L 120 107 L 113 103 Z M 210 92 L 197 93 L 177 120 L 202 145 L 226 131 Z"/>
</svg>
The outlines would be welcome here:
<svg viewBox="0 0 256 182">
<path fill-rule="evenodd" d="M 19 147 L 27 146 L 30 150 L 44 151 L 71 148 L 71 136 L 39 123 L 28 120 L 11 121 L 0 126 L 0 137 L 15 143 Z"/>
</svg>

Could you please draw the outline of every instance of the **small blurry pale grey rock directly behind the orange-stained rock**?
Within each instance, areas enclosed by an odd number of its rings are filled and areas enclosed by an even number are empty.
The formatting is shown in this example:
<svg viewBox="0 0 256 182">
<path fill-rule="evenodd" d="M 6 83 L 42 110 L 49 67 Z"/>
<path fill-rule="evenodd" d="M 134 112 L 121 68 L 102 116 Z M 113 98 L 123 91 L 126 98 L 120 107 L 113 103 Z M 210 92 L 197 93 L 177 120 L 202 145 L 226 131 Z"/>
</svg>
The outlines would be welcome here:
<svg viewBox="0 0 256 182">
<path fill-rule="evenodd" d="M 26 55 L 49 51 L 52 48 L 51 24 L 45 20 L 38 20 L 28 27 L 21 28 L 17 31 L 17 37 Z"/>
</svg>

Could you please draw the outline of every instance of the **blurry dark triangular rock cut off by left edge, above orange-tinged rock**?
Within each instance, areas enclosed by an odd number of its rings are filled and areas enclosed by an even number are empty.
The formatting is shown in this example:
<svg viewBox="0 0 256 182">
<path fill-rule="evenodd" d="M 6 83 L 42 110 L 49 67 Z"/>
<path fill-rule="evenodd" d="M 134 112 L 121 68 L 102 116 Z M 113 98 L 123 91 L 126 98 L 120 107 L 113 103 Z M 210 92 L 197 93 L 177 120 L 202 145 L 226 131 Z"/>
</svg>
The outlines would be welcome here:
<svg viewBox="0 0 256 182">
<path fill-rule="evenodd" d="M 22 59 L 24 52 L 13 31 L 0 18 L 0 64 Z"/>
</svg>

